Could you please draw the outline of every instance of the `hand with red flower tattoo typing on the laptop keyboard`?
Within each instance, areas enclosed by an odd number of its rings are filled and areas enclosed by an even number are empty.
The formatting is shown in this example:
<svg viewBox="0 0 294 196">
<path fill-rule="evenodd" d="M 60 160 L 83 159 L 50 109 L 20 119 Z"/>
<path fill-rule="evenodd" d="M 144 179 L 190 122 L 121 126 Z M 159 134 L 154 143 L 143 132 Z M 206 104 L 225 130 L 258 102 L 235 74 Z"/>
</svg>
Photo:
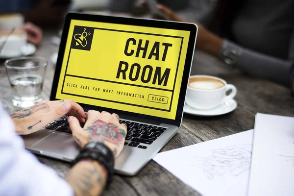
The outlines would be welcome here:
<svg viewBox="0 0 294 196">
<path fill-rule="evenodd" d="M 84 128 L 75 117 L 69 117 L 75 141 L 84 147 L 90 141 L 99 141 L 113 150 L 117 157 L 123 150 L 126 136 L 126 125 L 120 124 L 117 114 L 89 110 Z"/>
</svg>

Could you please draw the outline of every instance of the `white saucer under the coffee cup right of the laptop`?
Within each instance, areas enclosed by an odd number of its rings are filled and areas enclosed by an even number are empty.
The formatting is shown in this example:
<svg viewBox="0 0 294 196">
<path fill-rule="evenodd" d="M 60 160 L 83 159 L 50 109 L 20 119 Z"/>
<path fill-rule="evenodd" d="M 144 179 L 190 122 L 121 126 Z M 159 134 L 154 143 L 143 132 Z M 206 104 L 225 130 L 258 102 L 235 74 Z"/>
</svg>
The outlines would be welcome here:
<svg viewBox="0 0 294 196">
<path fill-rule="evenodd" d="M 198 110 L 190 107 L 185 103 L 184 112 L 187 114 L 195 115 L 195 116 L 218 116 L 222 114 L 227 114 L 237 108 L 237 102 L 234 99 L 228 100 L 221 105 L 212 108 L 210 110 Z"/>
</svg>

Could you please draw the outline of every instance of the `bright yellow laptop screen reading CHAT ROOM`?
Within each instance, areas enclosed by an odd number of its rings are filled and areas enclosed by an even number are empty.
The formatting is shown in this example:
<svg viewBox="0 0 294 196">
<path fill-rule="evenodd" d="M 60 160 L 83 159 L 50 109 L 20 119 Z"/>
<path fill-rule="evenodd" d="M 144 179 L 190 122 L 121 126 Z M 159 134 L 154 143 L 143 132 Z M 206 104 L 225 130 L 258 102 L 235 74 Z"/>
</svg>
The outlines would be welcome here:
<svg viewBox="0 0 294 196">
<path fill-rule="evenodd" d="M 174 120 L 189 36 L 71 20 L 55 98 Z"/>
</svg>

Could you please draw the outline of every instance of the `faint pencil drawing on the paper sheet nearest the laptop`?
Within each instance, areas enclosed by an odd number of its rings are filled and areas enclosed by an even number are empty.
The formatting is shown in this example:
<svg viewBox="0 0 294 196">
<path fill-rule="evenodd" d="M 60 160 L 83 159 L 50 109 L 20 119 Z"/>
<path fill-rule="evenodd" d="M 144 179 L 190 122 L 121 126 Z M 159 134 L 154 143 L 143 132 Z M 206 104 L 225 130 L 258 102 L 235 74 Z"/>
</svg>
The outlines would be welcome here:
<svg viewBox="0 0 294 196">
<path fill-rule="evenodd" d="M 194 157 L 193 161 L 203 169 L 208 179 L 224 175 L 238 176 L 250 169 L 251 145 L 236 145 L 214 149 L 211 155 L 205 157 Z"/>
</svg>

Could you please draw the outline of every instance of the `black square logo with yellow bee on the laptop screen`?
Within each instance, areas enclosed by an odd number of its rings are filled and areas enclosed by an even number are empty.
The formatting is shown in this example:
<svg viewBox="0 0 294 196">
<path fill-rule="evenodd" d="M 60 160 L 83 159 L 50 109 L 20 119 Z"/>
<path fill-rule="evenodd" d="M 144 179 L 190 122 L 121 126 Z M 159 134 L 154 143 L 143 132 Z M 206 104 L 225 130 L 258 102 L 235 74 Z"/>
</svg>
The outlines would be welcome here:
<svg viewBox="0 0 294 196">
<path fill-rule="evenodd" d="M 88 26 L 74 26 L 72 49 L 91 50 L 94 28 Z"/>
</svg>

